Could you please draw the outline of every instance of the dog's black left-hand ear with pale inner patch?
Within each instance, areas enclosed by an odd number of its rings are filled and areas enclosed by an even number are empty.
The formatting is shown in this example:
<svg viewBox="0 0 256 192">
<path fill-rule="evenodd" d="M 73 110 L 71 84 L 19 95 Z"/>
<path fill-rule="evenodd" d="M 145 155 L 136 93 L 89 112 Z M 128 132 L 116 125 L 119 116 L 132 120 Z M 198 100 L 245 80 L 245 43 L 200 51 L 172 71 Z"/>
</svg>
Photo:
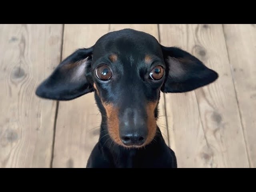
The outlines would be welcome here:
<svg viewBox="0 0 256 192">
<path fill-rule="evenodd" d="M 63 60 L 36 89 L 36 95 L 52 100 L 72 100 L 88 92 L 93 48 L 82 48 Z"/>
</svg>

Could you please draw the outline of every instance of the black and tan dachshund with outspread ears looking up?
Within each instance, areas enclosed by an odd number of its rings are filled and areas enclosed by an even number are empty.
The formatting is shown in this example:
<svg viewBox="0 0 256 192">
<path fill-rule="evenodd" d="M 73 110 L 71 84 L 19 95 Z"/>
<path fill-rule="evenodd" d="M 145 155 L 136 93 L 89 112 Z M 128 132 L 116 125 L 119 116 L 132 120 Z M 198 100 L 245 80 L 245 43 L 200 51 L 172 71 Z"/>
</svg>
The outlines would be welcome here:
<svg viewBox="0 0 256 192">
<path fill-rule="evenodd" d="M 123 29 L 64 59 L 36 95 L 62 101 L 94 92 L 102 122 L 86 168 L 177 168 L 176 155 L 156 124 L 160 92 L 189 92 L 217 78 L 181 48 Z"/>
</svg>

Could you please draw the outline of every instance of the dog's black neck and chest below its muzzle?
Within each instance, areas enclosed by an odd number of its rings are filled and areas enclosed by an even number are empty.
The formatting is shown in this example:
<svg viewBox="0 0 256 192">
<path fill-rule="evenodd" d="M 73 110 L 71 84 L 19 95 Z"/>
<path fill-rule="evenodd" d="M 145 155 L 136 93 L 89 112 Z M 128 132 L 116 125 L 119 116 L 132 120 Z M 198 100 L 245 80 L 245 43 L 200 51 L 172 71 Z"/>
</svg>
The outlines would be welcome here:
<svg viewBox="0 0 256 192">
<path fill-rule="evenodd" d="M 104 136 L 100 135 L 100 138 Z M 177 168 L 176 156 L 158 130 L 155 141 L 145 148 L 126 149 L 106 139 L 98 141 L 89 157 L 87 168 Z"/>
</svg>

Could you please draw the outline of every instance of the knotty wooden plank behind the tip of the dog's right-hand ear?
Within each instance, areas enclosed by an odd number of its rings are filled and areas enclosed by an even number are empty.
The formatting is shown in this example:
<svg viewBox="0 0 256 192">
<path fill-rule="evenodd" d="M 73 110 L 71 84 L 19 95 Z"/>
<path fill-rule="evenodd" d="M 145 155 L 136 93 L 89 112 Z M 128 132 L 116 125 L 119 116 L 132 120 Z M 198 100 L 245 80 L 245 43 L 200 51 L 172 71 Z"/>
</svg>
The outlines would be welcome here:
<svg viewBox="0 0 256 192">
<path fill-rule="evenodd" d="M 219 73 L 218 80 L 196 90 L 213 167 L 248 167 L 246 146 L 222 25 L 192 25 L 192 53 Z"/>
</svg>

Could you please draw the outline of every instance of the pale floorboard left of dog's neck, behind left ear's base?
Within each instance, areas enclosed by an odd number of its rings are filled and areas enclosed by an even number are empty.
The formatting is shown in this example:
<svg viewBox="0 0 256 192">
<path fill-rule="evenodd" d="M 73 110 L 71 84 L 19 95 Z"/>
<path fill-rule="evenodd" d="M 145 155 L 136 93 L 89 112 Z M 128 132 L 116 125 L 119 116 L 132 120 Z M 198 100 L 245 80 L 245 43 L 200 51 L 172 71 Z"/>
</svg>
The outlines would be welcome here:
<svg viewBox="0 0 256 192">
<path fill-rule="evenodd" d="M 108 24 L 66 24 L 62 60 L 78 48 L 93 46 L 108 28 Z M 59 103 L 53 167 L 86 166 L 99 139 L 100 127 L 97 126 L 101 116 L 98 112 L 94 93 Z"/>
</svg>

